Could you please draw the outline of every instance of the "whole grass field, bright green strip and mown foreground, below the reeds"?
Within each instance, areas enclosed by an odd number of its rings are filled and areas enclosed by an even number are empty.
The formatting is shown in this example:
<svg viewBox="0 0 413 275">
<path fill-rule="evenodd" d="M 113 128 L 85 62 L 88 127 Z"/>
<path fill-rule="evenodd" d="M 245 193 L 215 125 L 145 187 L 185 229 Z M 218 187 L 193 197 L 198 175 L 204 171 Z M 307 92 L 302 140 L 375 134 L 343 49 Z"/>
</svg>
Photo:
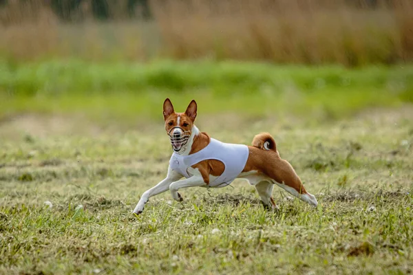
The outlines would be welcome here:
<svg viewBox="0 0 413 275">
<path fill-rule="evenodd" d="M 2 65 L 0 274 L 413 272 L 411 66 L 62 64 Z M 272 133 L 319 206 L 275 187 L 264 210 L 237 179 L 134 217 L 171 155 L 166 96 L 224 142 Z"/>
</svg>

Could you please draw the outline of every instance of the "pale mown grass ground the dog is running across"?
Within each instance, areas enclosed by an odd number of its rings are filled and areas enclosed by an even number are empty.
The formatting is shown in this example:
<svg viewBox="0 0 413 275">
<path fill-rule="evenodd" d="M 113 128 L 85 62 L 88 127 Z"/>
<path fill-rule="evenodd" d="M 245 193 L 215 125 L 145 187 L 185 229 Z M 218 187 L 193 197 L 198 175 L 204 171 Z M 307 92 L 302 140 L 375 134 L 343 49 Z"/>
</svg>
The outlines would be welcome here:
<svg viewBox="0 0 413 275">
<path fill-rule="evenodd" d="M 162 123 L 124 131 L 57 115 L 4 120 L 0 273 L 411 273 L 412 118 L 408 104 L 312 124 L 200 111 L 200 129 L 225 142 L 272 133 L 319 207 L 276 187 L 280 210 L 266 211 L 236 180 L 182 190 L 182 203 L 153 197 L 138 218 L 131 211 L 171 154 Z"/>
</svg>

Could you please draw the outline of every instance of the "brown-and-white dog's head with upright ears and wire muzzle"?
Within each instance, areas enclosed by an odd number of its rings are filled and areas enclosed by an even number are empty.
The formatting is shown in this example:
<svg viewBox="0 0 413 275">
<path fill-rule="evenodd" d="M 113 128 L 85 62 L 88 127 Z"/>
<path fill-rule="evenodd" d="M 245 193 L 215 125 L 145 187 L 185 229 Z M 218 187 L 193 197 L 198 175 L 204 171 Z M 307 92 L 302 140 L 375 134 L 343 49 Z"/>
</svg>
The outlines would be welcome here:
<svg viewBox="0 0 413 275">
<path fill-rule="evenodd" d="M 184 113 L 176 113 L 172 102 L 167 98 L 163 106 L 165 130 L 171 140 L 173 151 L 180 153 L 185 150 L 189 137 L 191 137 L 193 122 L 196 118 L 197 105 L 192 100 Z"/>
</svg>

